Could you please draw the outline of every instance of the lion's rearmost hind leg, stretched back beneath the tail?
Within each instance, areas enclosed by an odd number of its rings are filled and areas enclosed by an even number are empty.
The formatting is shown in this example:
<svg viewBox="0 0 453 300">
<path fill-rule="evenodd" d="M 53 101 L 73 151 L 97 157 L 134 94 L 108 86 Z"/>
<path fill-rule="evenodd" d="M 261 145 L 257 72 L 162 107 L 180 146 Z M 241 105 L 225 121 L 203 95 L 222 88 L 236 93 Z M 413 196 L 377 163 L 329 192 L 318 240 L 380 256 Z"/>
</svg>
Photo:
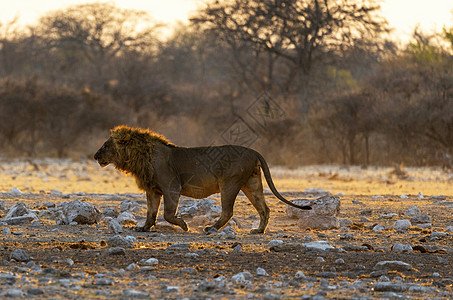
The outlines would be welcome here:
<svg viewBox="0 0 453 300">
<path fill-rule="evenodd" d="M 241 189 L 252 205 L 260 215 L 260 225 L 258 228 L 252 229 L 250 233 L 258 234 L 264 233 L 267 224 L 269 223 L 270 210 L 264 200 L 263 184 L 261 182 L 261 174 L 252 175 L 247 183 Z"/>
</svg>

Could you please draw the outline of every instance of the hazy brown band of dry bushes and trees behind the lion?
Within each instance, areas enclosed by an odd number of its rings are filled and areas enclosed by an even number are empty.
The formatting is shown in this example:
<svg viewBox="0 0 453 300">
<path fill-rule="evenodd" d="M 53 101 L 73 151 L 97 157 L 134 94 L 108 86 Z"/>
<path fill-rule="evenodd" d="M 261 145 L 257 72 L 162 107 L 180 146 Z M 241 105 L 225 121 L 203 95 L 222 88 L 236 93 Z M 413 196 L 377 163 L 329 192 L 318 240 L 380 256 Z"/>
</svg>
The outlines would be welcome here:
<svg viewBox="0 0 453 300">
<path fill-rule="evenodd" d="M 278 165 L 451 167 L 448 24 L 401 48 L 378 1 L 210 1 L 192 17 L 166 40 L 111 3 L 0 24 L 1 156 L 91 157 L 128 124 Z"/>
</svg>

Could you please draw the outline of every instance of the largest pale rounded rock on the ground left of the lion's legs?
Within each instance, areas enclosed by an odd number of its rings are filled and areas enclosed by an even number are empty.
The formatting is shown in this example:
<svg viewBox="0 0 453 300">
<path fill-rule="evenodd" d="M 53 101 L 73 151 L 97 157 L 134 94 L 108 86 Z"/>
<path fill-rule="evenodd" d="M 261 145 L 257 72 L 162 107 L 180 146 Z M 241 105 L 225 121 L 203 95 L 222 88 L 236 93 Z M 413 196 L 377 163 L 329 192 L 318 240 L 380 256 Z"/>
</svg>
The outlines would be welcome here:
<svg viewBox="0 0 453 300">
<path fill-rule="evenodd" d="M 62 212 L 65 224 L 70 224 L 71 222 L 94 224 L 101 219 L 101 213 L 94 205 L 78 200 L 64 203 Z"/>
</svg>

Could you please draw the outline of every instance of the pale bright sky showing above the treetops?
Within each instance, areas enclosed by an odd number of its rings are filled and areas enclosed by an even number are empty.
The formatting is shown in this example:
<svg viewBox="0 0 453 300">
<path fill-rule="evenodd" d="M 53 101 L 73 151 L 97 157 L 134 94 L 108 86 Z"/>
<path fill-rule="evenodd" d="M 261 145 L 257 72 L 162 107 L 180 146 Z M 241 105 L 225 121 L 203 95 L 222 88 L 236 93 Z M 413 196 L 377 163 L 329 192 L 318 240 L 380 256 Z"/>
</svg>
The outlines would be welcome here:
<svg viewBox="0 0 453 300">
<path fill-rule="evenodd" d="M 0 0 L 0 22 L 6 23 L 15 16 L 20 24 L 32 24 L 50 10 L 95 1 L 89 0 Z M 187 22 L 203 0 L 114 0 L 121 8 L 148 12 L 155 20 L 174 24 Z M 453 27 L 453 0 L 384 0 L 382 15 L 387 18 L 395 35 L 407 41 L 414 27 L 419 25 L 428 33 L 440 32 L 443 26 Z"/>
</svg>

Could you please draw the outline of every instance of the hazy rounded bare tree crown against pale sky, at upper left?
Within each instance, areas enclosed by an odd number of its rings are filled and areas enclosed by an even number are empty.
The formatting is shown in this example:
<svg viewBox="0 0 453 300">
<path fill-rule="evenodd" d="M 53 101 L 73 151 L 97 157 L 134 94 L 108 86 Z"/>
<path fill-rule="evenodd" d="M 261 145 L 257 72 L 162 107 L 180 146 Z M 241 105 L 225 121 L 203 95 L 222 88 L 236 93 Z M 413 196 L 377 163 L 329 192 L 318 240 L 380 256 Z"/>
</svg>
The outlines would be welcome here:
<svg viewBox="0 0 453 300">
<path fill-rule="evenodd" d="M 50 12 L 40 19 L 40 27 L 42 36 L 67 68 L 89 63 L 96 77 L 121 51 L 148 50 L 155 44 L 156 26 L 151 25 L 145 12 L 120 9 L 111 3 L 82 4 Z"/>
</svg>

